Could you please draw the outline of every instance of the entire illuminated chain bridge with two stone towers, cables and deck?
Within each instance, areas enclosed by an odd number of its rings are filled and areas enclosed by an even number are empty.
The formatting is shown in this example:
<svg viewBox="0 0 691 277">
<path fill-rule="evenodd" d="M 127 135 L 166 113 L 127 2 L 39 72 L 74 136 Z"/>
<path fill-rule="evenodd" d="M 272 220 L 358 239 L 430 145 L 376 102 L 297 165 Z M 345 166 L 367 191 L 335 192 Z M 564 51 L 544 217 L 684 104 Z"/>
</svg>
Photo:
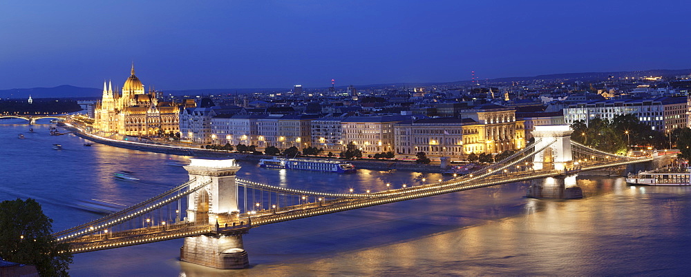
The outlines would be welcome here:
<svg viewBox="0 0 691 277">
<path fill-rule="evenodd" d="M 192 158 L 189 181 L 103 218 L 53 234 L 73 253 L 184 238 L 181 260 L 220 269 L 249 265 L 249 229 L 415 198 L 652 161 L 570 141 L 566 125 L 536 126 L 536 141 L 515 154 L 449 181 L 381 192 L 313 192 L 236 178 L 234 160 Z"/>
</svg>

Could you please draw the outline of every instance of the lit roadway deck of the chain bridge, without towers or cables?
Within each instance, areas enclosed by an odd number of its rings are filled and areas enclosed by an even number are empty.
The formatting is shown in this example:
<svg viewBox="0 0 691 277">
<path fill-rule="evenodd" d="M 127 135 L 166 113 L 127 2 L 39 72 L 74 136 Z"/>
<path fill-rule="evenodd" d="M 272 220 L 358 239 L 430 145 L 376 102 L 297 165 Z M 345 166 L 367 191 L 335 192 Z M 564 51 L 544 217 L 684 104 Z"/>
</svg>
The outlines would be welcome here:
<svg viewBox="0 0 691 277">
<path fill-rule="evenodd" d="M 514 172 L 508 175 L 489 175 L 489 176 L 462 176 L 450 181 L 407 187 L 401 189 L 390 189 L 384 192 L 375 192 L 367 198 L 337 198 L 334 200 L 318 201 L 316 203 L 303 203 L 275 209 L 266 209 L 259 212 L 245 214 L 218 214 L 216 216 L 218 225 L 206 222 L 189 223 L 181 221 L 179 223 L 158 225 L 147 228 L 131 229 L 123 232 L 111 232 L 103 234 L 92 234 L 69 240 L 72 245 L 73 253 L 93 252 L 102 249 L 112 249 L 126 247 L 130 245 L 140 245 L 153 243 L 162 240 L 184 238 L 187 236 L 198 236 L 202 234 L 246 234 L 252 227 L 279 223 L 287 220 L 319 216 L 322 214 L 332 214 L 343 212 L 350 209 L 371 207 L 386 203 L 406 201 L 415 198 L 460 192 L 468 189 L 481 187 L 491 187 L 506 183 L 529 181 L 537 178 L 547 178 L 555 176 L 566 176 L 578 174 L 589 170 L 598 170 L 607 167 L 616 167 L 630 163 L 641 163 L 652 161 L 652 157 L 630 158 L 619 161 L 605 161 L 582 165 L 574 170 L 543 170 L 538 172 Z M 206 214 L 200 214 L 206 216 Z"/>
</svg>

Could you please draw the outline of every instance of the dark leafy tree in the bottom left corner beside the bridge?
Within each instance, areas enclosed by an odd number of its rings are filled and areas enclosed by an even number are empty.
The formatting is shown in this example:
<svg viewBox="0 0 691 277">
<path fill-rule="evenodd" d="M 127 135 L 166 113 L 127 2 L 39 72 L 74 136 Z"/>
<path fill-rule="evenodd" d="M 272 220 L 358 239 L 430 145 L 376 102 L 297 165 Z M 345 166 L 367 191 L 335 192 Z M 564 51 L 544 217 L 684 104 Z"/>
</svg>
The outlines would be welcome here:
<svg viewBox="0 0 691 277">
<path fill-rule="evenodd" d="M 70 246 L 51 235 L 53 219 L 32 198 L 0 203 L 0 256 L 15 263 L 35 265 L 41 276 L 67 276 L 72 263 Z"/>
</svg>

